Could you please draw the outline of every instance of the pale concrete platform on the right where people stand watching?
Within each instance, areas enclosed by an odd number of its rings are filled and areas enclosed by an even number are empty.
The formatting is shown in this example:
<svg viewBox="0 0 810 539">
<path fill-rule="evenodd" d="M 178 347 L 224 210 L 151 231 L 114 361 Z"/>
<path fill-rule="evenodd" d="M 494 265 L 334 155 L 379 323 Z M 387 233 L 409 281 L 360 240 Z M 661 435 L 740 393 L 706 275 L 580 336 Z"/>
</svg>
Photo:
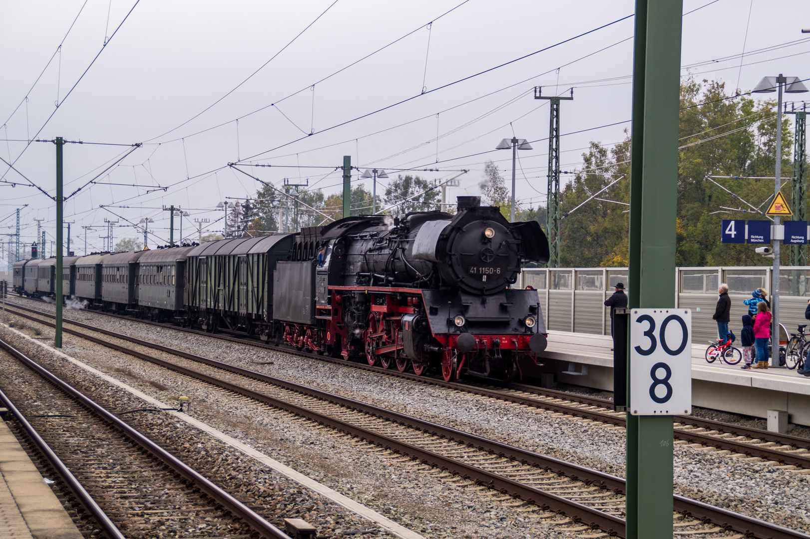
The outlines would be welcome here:
<svg viewBox="0 0 810 539">
<path fill-rule="evenodd" d="M 612 391 L 612 346 L 609 335 L 549 332 L 548 348 L 541 354 L 544 369 L 557 382 Z M 787 413 L 791 423 L 810 425 L 810 378 L 784 367 L 742 370 L 742 363 L 707 363 L 707 346 L 709 342 L 693 341 L 693 405 L 757 418 L 776 410 Z"/>
</svg>

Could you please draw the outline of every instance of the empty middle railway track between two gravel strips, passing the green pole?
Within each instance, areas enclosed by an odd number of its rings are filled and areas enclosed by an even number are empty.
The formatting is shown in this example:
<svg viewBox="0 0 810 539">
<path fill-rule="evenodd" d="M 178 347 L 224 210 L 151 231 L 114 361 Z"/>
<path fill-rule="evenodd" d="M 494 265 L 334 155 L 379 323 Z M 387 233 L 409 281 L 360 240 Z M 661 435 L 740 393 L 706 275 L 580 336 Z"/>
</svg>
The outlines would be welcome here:
<svg viewBox="0 0 810 539">
<path fill-rule="evenodd" d="M 565 514 L 581 522 L 582 529 L 600 528 L 624 537 L 625 482 L 620 477 L 132 337 L 114 334 L 126 342 L 113 343 L 75 329 L 65 331 L 355 436 L 367 442 L 368 448 L 377 446 L 419 460 L 425 473 L 452 474 L 468 487 L 509 494 L 514 504 L 528 503 Z M 139 346 L 173 354 L 176 359 L 152 357 L 151 351 L 135 350 Z M 717 537 L 712 534 L 718 530 L 749 537 L 808 537 L 680 496 L 674 502 L 680 513 L 675 516 L 677 529 L 693 537 Z"/>
</svg>

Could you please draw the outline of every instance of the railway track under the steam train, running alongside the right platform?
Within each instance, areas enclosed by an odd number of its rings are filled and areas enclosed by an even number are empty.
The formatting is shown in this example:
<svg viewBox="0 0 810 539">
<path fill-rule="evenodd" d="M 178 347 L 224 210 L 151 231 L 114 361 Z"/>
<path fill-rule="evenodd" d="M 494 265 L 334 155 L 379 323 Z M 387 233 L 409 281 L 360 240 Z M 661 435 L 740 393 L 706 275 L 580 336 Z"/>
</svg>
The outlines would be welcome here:
<svg viewBox="0 0 810 539">
<path fill-rule="evenodd" d="M 35 309 L 25 308 L 19 305 L 16 305 L 15 308 L 23 309 L 29 313 L 35 313 L 38 316 L 53 318 L 52 315 L 36 311 Z M 10 312 L 14 312 L 13 309 L 10 309 Z M 17 313 L 19 316 L 30 316 L 23 312 Z M 127 316 L 109 316 L 131 320 Z M 36 320 L 36 317 L 34 317 L 33 320 Z M 66 319 L 66 321 L 68 320 Z M 70 320 L 70 323 L 85 329 L 96 330 L 92 325 L 82 324 L 78 321 Z M 406 380 L 439 385 L 465 393 L 474 393 L 481 397 L 509 401 L 517 405 L 531 406 L 559 414 L 573 415 L 574 417 L 593 422 L 602 422 L 617 427 L 625 427 L 625 413 L 613 411 L 612 401 L 605 399 L 573 395 L 571 393 L 542 389 L 526 384 L 509 384 L 506 388 L 493 388 L 492 386 L 485 386 L 484 384 L 445 382 L 441 378 L 417 376 L 413 373 L 373 367 L 368 364 L 350 362 L 344 359 L 326 358 L 318 354 L 307 354 L 302 351 L 279 346 L 270 346 L 264 343 L 246 342 L 244 338 L 205 333 L 193 329 L 181 329 L 174 325 L 158 324 L 151 321 L 147 321 L 146 323 L 241 344 L 247 343 L 251 346 L 260 346 L 267 350 L 301 355 L 302 357 L 310 359 L 330 361 L 331 363 L 380 372 L 387 376 L 398 376 Z M 780 435 L 770 431 L 761 431 L 708 419 L 693 418 L 692 416 L 675 416 L 675 421 L 673 425 L 673 437 L 676 440 L 676 444 L 689 444 L 694 448 L 709 448 L 710 450 L 730 452 L 735 456 L 760 458 L 774 465 L 787 467 L 787 469 L 810 469 L 810 439 L 791 435 Z"/>
</svg>

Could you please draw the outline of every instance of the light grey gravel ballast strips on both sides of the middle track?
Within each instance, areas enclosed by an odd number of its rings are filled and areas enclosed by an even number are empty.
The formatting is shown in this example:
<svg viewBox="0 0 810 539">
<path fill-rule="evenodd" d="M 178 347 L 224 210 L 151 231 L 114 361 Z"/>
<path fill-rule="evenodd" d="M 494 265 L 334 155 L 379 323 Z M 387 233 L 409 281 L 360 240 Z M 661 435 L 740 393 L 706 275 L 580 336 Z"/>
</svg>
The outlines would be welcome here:
<svg viewBox="0 0 810 539">
<path fill-rule="evenodd" d="M 36 303 L 36 308 L 53 310 L 52 306 L 43 303 Z M 65 316 L 624 477 L 623 429 L 93 312 L 68 310 Z M 37 326 L 29 321 L 23 324 L 31 328 Z M 40 337 L 45 337 L 44 342 L 50 340 L 53 343 L 53 330 L 40 326 L 40 332 Z M 10 333 L 2 329 L 4 338 Z M 32 332 L 28 329 L 26 333 Z M 19 341 L 19 337 L 16 340 Z M 30 344 L 25 346 L 31 349 Z M 190 414 L 195 418 L 425 537 L 574 537 L 574 534 L 562 531 L 561 526 L 546 524 L 545 519 L 537 517 L 539 513 L 507 507 L 480 492 L 429 477 L 417 472 L 413 466 L 356 448 L 352 440 L 336 437 L 326 429 L 315 429 L 306 422 L 292 420 L 287 414 L 268 411 L 260 405 L 236 401 L 204 384 L 169 374 L 160 367 L 122 359 L 121 354 L 68 334 L 63 337 L 62 351 L 161 401 L 168 403 L 181 394 L 188 395 L 192 398 Z M 62 368 L 87 380 L 87 383 L 96 378 L 76 367 Z M 119 392 L 111 389 L 110 393 L 115 395 L 113 400 L 122 401 Z M 133 408 L 139 406 L 137 401 L 131 401 Z M 150 423 L 149 428 L 177 430 L 177 436 L 188 440 L 185 451 L 204 457 L 204 465 L 242 470 L 239 474 L 244 479 L 245 492 L 262 486 L 263 482 L 275 485 L 275 481 L 281 481 L 261 465 L 185 424 L 162 425 L 166 419 L 161 414 L 143 416 L 138 420 L 155 422 Z M 796 431 L 793 434 L 800 435 Z M 810 515 L 806 509 L 810 507 L 810 476 L 806 474 L 779 469 L 761 461 L 732 459 L 716 452 L 676 446 L 675 483 L 677 494 L 810 532 Z M 301 490 L 292 485 L 284 488 Z M 279 511 L 288 512 L 288 506 L 292 504 L 281 505 L 284 508 L 279 507 Z M 312 517 L 313 511 L 315 507 L 299 514 Z M 315 512 L 315 516 L 320 514 Z M 351 516 L 342 515 L 342 518 L 351 520 Z M 307 516 L 298 517 L 308 520 Z M 288 514 L 285 517 L 290 518 Z M 318 525 L 321 533 L 322 524 Z M 338 533 L 340 529 L 339 534 L 343 534 L 347 531 L 347 524 L 331 525 L 327 522 L 324 525 L 325 532 Z M 355 526 L 352 531 L 364 529 L 364 526 L 373 528 L 362 519 L 353 520 L 351 525 Z"/>
</svg>

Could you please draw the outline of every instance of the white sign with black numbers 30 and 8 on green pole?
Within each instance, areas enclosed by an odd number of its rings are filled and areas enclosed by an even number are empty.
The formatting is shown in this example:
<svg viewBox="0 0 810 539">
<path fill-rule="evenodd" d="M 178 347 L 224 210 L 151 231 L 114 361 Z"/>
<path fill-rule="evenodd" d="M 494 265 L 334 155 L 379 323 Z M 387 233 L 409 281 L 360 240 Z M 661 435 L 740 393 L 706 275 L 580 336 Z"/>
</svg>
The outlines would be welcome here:
<svg viewBox="0 0 810 539">
<path fill-rule="evenodd" d="M 630 309 L 633 415 L 692 413 L 692 311 Z"/>
</svg>

